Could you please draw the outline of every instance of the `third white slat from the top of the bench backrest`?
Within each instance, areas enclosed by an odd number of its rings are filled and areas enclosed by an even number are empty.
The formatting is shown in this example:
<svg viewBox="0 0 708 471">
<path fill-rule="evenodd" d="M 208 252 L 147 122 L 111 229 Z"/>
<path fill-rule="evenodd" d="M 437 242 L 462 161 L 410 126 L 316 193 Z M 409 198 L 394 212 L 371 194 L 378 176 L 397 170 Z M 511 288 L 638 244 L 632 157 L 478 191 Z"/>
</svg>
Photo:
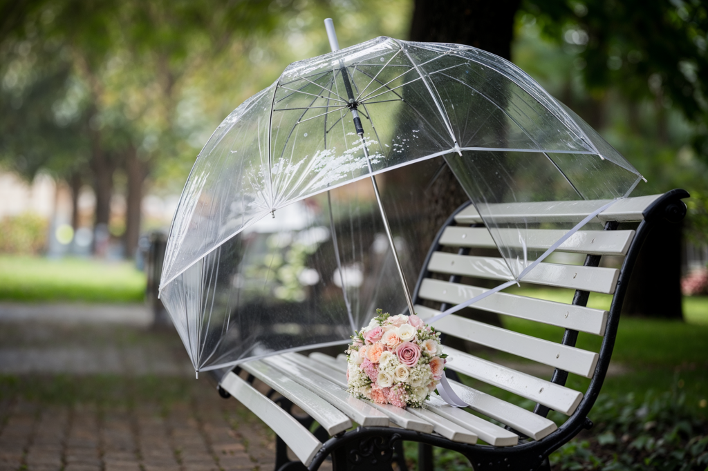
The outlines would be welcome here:
<svg viewBox="0 0 708 471">
<path fill-rule="evenodd" d="M 513 279 L 503 259 L 475 257 L 445 252 L 433 252 L 428 262 L 431 272 L 457 274 L 486 279 Z M 525 283 L 582 289 L 595 293 L 615 293 L 619 270 L 614 268 L 581 267 L 556 263 L 539 263 L 523 278 Z"/>
</svg>

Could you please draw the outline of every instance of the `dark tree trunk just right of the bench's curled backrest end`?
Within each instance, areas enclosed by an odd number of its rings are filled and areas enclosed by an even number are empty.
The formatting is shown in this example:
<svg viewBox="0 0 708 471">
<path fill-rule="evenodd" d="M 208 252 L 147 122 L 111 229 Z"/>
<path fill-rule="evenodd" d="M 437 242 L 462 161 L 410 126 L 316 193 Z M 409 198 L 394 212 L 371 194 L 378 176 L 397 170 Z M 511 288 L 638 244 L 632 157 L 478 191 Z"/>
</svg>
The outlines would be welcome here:
<svg viewBox="0 0 708 471">
<path fill-rule="evenodd" d="M 661 223 L 644 240 L 629 279 L 622 314 L 683 320 L 682 224 Z"/>
</svg>

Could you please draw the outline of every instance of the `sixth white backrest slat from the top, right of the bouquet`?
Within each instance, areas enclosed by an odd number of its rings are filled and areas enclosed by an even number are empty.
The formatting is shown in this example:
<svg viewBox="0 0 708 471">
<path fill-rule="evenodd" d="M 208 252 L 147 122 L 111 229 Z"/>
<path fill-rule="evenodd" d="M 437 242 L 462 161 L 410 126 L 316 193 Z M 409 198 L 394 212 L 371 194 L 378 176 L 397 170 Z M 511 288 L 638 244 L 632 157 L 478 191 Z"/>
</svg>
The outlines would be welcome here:
<svg viewBox="0 0 708 471">
<path fill-rule="evenodd" d="M 452 358 L 447 368 L 539 402 L 562 414 L 572 414 L 583 399 L 582 392 L 477 358 L 464 351 L 445 347 L 445 353 Z"/>
</svg>

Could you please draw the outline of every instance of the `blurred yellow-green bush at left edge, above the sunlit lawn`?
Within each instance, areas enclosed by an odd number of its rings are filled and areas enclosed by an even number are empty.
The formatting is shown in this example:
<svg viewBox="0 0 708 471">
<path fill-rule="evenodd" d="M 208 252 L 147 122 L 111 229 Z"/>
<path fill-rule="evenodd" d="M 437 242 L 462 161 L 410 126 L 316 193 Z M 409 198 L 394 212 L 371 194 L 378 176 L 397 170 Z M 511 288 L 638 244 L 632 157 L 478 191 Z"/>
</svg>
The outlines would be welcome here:
<svg viewBox="0 0 708 471">
<path fill-rule="evenodd" d="M 47 221 L 37 214 L 0 220 L 0 253 L 37 255 L 47 243 Z"/>
</svg>

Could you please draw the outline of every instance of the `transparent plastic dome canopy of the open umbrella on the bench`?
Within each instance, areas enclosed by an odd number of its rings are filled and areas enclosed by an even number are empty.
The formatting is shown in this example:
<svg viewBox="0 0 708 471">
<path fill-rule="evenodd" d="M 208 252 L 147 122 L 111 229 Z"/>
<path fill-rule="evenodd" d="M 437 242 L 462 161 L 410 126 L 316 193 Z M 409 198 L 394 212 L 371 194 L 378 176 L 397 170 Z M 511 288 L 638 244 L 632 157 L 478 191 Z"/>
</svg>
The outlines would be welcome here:
<svg viewBox="0 0 708 471">
<path fill-rule="evenodd" d="M 530 76 L 474 47 L 377 37 L 290 64 L 217 127 L 173 219 L 160 293 L 195 370 L 346 344 L 376 308 L 410 310 L 401 278 L 417 278 L 437 230 L 421 209 L 445 167 L 508 279 L 541 254 L 524 243 L 533 223 L 506 221 L 504 204 L 587 200 L 589 212 L 642 179 Z"/>
</svg>

